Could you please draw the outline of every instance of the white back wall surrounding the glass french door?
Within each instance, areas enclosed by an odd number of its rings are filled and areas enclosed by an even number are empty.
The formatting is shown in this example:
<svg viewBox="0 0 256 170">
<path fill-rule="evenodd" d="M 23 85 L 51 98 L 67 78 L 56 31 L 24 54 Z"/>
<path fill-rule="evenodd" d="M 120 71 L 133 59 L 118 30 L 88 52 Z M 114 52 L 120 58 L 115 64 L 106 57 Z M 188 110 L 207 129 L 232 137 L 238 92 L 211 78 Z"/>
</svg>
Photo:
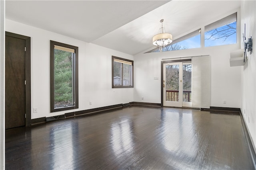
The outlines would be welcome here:
<svg viewBox="0 0 256 170">
<path fill-rule="evenodd" d="M 162 59 L 210 55 L 210 106 L 240 108 L 241 67 L 230 67 L 229 63 L 230 51 L 239 48 L 240 44 L 234 44 L 135 55 L 134 102 L 161 103 Z M 154 77 L 159 79 L 154 80 Z M 226 100 L 226 104 L 223 104 L 223 100 Z"/>
</svg>

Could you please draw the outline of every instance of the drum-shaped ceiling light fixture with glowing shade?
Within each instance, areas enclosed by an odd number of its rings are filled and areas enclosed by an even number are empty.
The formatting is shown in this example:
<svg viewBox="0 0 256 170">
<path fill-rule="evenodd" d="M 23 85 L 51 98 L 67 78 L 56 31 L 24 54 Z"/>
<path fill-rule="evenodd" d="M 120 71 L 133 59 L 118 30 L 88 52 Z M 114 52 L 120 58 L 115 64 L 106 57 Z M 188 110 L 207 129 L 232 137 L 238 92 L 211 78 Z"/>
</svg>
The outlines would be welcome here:
<svg viewBox="0 0 256 170">
<path fill-rule="evenodd" d="M 162 27 L 159 29 L 159 34 L 156 34 L 153 37 L 153 45 L 156 45 L 159 47 L 160 51 L 163 51 L 163 47 L 166 45 L 172 43 L 172 34 L 170 33 L 165 33 L 164 27 L 163 27 L 163 21 L 164 19 L 160 20 L 162 23 Z"/>
</svg>

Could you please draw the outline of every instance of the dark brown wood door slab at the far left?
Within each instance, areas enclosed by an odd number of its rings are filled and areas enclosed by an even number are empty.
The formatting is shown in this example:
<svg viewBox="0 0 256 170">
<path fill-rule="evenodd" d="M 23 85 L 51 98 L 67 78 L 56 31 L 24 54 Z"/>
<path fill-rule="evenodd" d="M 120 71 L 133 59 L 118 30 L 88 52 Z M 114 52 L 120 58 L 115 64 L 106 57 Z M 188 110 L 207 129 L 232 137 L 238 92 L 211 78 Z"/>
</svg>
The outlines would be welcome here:
<svg viewBox="0 0 256 170">
<path fill-rule="evenodd" d="M 26 125 L 25 40 L 5 37 L 5 128 Z"/>
</svg>

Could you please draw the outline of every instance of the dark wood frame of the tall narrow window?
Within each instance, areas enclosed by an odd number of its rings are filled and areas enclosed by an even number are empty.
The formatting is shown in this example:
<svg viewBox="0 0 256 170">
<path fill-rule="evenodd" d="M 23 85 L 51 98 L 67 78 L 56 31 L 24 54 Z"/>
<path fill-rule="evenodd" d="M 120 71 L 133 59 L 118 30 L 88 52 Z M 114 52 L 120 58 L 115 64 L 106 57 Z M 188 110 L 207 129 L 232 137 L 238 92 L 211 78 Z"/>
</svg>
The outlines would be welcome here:
<svg viewBox="0 0 256 170">
<path fill-rule="evenodd" d="M 54 45 L 74 49 L 73 57 L 73 96 L 74 105 L 54 107 Z M 50 112 L 64 111 L 78 108 L 78 47 L 50 40 Z"/>
</svg>

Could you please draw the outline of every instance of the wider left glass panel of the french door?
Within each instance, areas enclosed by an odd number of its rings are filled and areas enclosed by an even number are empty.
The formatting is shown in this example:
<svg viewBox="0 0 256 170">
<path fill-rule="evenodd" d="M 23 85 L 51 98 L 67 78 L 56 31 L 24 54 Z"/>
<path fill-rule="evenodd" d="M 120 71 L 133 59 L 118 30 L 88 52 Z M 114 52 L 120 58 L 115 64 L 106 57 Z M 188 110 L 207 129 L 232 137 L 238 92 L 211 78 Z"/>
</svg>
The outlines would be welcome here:
<svg viewBox="0 0 256 170">
<path fill-rule="evenodd" d="M 179 102 L 179 65 L 166 65 L 166 101 Z"/>
</svg>

